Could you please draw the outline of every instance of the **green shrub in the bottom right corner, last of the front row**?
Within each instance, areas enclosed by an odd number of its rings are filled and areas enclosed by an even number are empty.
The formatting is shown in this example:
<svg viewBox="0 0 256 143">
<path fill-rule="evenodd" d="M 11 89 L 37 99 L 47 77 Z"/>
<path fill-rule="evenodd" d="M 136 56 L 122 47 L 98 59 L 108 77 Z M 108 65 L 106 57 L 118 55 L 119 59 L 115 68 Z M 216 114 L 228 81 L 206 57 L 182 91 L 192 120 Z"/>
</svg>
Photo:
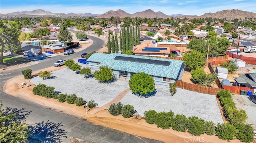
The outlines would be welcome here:
<svg viewBox="0 0 256 143">
<path fill-rule="evenodd" d="M 254 140 L 254 132 L 251 125 L 238 123 L 236 124 L 236 129 L 239 130 L 237 133 L 237 139 L 239 139 L 242 142 L 250 143 Z"/>
</svg>

